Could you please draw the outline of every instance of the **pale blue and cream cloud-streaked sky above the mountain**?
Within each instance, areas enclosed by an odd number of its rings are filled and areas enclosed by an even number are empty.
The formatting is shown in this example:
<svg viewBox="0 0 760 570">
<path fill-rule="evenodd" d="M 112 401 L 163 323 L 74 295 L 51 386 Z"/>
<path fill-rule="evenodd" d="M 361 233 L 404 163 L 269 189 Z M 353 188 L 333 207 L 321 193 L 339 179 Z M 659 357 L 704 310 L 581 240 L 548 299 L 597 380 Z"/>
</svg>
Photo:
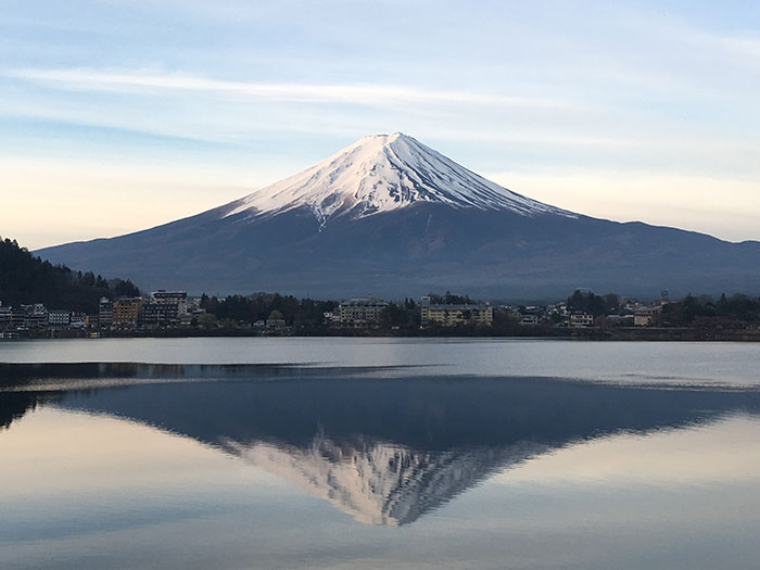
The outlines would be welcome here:
<svg viewBox="0 0 760 570">
<path fill-rule="evenodd" d="M 760 240 L 760 3 L 0 0 L 0 236 L 230 202 L 402 131 L 567 210 Z"/>
</svg>

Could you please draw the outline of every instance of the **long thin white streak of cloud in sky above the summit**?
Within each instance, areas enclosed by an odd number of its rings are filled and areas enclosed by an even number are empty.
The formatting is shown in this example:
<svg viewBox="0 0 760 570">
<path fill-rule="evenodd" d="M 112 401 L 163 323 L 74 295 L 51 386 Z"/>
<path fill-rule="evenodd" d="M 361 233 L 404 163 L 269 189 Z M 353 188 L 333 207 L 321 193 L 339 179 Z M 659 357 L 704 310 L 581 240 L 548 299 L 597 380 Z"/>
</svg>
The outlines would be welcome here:
<svg viewBox="0 0 760 570">
<path fill-rule="evenodd" d="M 268 101 L 303 103 L 353 103 L 364 105 L 487 104 L 516 107 L 563 107 L 560 101 L 508 97 L 470 91 L 419 89 L 384 84 L 314 85 L 297 83 L 229 81 L 185 73 L 102 71 L 90 68 L 8 69 L 8 77 L 43 81 L 61 89 L 83 91 L 200 91 Z"/>
</svg>

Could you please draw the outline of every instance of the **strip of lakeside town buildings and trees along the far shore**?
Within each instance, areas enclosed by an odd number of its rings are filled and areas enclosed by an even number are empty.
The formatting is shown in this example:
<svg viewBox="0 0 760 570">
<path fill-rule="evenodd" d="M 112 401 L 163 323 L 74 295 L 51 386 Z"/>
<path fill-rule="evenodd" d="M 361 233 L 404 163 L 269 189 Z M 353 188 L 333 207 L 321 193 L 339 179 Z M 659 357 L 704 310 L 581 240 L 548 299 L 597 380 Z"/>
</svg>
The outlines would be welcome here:
<svg viewBox="0 0 760 570">
<path fill-rule="evenodd" d="M 0 300 L 0 339 L 182 335 L 507 335 L 612 340 L 760 340 L 760 300 L 746 295 L 641 302 L 575 291 L 553 304 L 473 301 L 428 294 L 342 301 L 278 293 L 189 296 L 159 290 L 102 297 L 87 314 Z"/>
</svg>

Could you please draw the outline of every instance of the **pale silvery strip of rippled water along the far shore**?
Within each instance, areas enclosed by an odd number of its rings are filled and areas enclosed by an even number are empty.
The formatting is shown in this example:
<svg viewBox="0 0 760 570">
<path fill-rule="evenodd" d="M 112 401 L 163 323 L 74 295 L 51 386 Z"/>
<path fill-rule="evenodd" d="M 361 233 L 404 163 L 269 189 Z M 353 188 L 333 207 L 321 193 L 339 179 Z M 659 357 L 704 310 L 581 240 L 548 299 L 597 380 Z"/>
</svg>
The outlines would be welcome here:
<svg viewBox="0 0 760 570">
<path fill-rule="evenodd" d="M 0 343 L 7 363 L 290 363 L 315 367 L 422 366 L 433 375 L 575 378 L 758 387 L 757 346 L 714 342 L 525 339 L 97 339 Z M 425 373 L 420 371 L 420 376 Z M 631 376 L 634 375 L 634 376 Z M 1 375 L 0 375 L 1 376 Z M 188 376 L 186 376 L 188 377 Z M 638 377 L 638 378 L 636 378 Z"/>
</svg>

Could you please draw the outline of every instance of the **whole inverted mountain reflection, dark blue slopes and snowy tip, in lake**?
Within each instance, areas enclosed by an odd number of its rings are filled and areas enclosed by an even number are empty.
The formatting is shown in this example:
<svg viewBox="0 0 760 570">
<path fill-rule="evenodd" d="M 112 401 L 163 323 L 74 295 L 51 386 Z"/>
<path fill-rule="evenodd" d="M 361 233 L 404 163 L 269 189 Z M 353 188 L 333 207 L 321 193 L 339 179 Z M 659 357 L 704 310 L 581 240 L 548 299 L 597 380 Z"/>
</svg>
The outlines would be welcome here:
<svg viewBox="0 0 760 570">
<path fill-rule="evenodd" d="M 264 368 L 236 367 L 226 377 L 216 368 L 174 372 L 175 379 L 201 378 L 193 382 L 64 392 L 59 405 L 134 418 L 220 446 L 357 520 L 382 524 L 411 522 L 495 471 L 572 442 L 760 411 L 755 391 L 367 378 L 346 369 L 275 377 Z M 144 369 L 140 375 L 150 376 Z"/>
</svg>

